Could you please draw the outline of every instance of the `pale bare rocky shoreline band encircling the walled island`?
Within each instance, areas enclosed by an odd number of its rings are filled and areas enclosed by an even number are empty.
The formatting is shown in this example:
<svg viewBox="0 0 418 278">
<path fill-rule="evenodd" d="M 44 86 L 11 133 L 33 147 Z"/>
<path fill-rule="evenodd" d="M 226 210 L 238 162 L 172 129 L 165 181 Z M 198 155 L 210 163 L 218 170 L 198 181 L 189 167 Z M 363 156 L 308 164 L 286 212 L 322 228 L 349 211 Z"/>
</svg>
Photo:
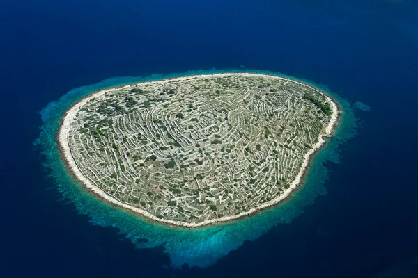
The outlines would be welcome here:
<svg viewBox="0 0 418 278">
<path fill-rule="evenodd" d="M 131 84 L 131 85 L 119 85 L 115 88 L 108 88 L 108 89 L 105 89 L 105 90 L 100 90 L 98 92 L 93 92 L 90 95 L 87 95 L 86 97 L 80 99 L 75 104 L 73 104 L 70 108 L 68 108 L 68 110 L 61 117 L 61 124 L 59 126 L 59 131 L 56 134 L 56 142 L 59 146 L 59 151 L 60 151 L 61 156 L 63 157 L 63 161 L 64 161 L 65 165 L 68 167 L 68 169 L 70 170 L 70 173 L 72 174 L 73 177 L 75 177 L 75 179 L 77 179 L 77 181 L 81 182 L 85 188 L 88 188 L 91 191 L 91 193 L 97 195 L 98 197 L 101 197 L 102 199 L 106 200 L 107 202 L 109 202 L 111 204 L 114 204 L 118 207 L 125 208 L 128 211 L 132 211 L 132 212 L 137 213 L 141 216 L 144 216 L 147 219 L 155 220 L 156 222 L 160 222 L 162 224 L 168 224 L 170 226 L 175 226 L 175 227 L 194 228 L 194 227 L 203 227 L 203 226 L 210 225 L 210 224 L 215 224 L 215 223 L 229 222 L 231 220 L 236 220 L 238 218 L 243 218 L 247 215 L 252 215 L 252 214 L 254 214 L 258 211 L 261 211 L 263 209 L 270 208 L 270 207 L 272 207 L 276 204 L 279 204 L 280 202 L 284 201 L 284 199 L 286 199 L 288 196 L 290 196 L 291 193 L 293 193 L 293 191 L 295 191 L 295 189 L 297 189 L 298 186 L 301 185 L 301 183 L 303 181 L 303 177 L 307 173 L 307 169 L 308 169 L 309 164 L 311 162 L 311 158 L 314 156 L 314 154 L 321 147 L 323 147 L 325 145 L 325 140 L 323 139 L 323 136 L 331 137 L 333 135 L 336 124 L 337 124 L 337 122 L 339 122 L 339 117 L 341 116 L 341 110 L 339 109 L 339 107 L 336 104 L 336 101 L 334 101 L 334 99 L 332 99 L 330 96 L 326 95 L 324 92 L 318 90 L 314 86 L 308 85 L 306 83 L 302 83 L 300 81 L 295 81 L 294 79 L 281 77 L 281 76 L 276 76 L 276 75 L 272 75 L 272 74 L 255 74 L 255 73 L 245 73 L 245 72 L 242 72 L 242 73 L 221 73 L 221 74 L 199 74 L 199 75 L 176 77 L 176 78 L 172 78 L 172 79 L 162 79 L 160 81 L 146 81 L 146 82 L 143 82 L 142 84 L 166 83 L 166 82 L 169 82 L 173 79 L 176 79 L 176 80 L 179 80 L 179 81 L 185 81 L 185 80 L 196 79 L 196 78 L 197 79 L 205 79 L 205 78 L 208 78 L 208 77 L 215 77 L 215 76 L 216 77 L 222 77 L 222 76 L 231 76 L 231 75 L 265 76 L 265 77 L 268 77 L 268 78 L 284 79 L 286 81 L 295 82 L 295 83 L 298 83 L 300 85 L 304 85 L 304 86 L 307 86 L 309 88 L 312 88 L 312 89 L 316 90 L 316 92 L 320 93 L 321 95 L 324 95 L 327 98 L 327 101 L 330 101 L 330 104 L 332 104 L 332 112 L 333 113 L 331 115 L 330 122 L 327 124 L 327 126 L 325 126 L 325 129 L 323 129 L 323 132 L 320 134 L 320 136 L 318 138 L 318 142 L 311 149 L 309 149 L 307 154 L 305 154 L 304 161 L 302 163 L 300 171 L 298 172 L 295 179 L 292 181 L 291 186 L 288 189 L 284 190 L 284 193 L 282 193 L 279 197 L 271 200 L 270 202 L 260 204 L 260 205 L 256 206 L 255 208 L 251 208 L 249 211 L 242 212 L 242 213 L 239 213 L 237 215 L 224 216 L 222 218 L 215 218 L 215 219 L 212 219 L 212 220 L 206 220 L 206 221 L 199 222 L 199 223 L 178 222 L 178 221 L 173 221 L 173 220 L 164 220 L 164 219 L 157 218 L 155 215 L 152 215 L 152 214 L 148 213 L 147 211 L 142 210 L 141 208 L 137 208 L 137 207 L 134 207 L 134 206 L 130 206 L 129 204 L 125 204 L 125 203 L 119 201 L 118 199 L 116 199 L 115 197 L 113 197 L 111 195 L 108 195 L 102 189 L 100 189 L 98 186 L 95 186 L 95 184 L 93 182 L 91 182 L 89 179 L 84 177 L 82 172 L 79 170 L 79 167 L 77 166 L 77 163 L 75 162 L 74 157 L 72 156 L 72 152 L 71 152 L 70 146 L 68 144 L 68 132 L 70 131 L 70 125 L 75 118 L 75 114 L 91 98 L 98 97 L 100 95 L 103 95 L 104 93 L 111 92 L 111 91 L 114 91 L 114 90 L 119 89 L 119 88 L 130 88 L 130 87 L 134 86 L 136 83 Z"/>
</svg>

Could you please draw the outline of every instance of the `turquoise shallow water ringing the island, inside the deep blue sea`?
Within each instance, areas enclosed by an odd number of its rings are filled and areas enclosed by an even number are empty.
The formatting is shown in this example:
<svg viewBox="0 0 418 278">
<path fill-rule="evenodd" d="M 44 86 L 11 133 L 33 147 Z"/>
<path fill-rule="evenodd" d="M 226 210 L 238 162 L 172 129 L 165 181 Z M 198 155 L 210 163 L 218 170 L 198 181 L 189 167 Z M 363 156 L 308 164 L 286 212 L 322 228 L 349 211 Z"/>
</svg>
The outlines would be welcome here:
<svg viewBox="0 0 418 278">
<path fill-rule="evenodd" d="M 214 74 L 221 72 L 242 72 L 240 70 L 210 70 L 185 72 L 181 74 L 169 74 L 146 77 L 116 77 L 106 79 L 93 85 L 83 86 L 71 90 L 63 95 L 58 101 L 47 105 L 41 112 L 43 126 L 40 137 L 35 144 L 42 149 L 45 156 L 45 168 L 49 177 L 58 186 L 63 199 L 74 202 L 79 213 L 88 215 L 91 222 L 103 227 L 116 227 L 122 234 L 132 240 L 139 248 L 162 246 L 164 252 L 169 254 L 171 265 L 180 267 L 184 264 L 189 266 L 206 267 L 212 265 L 217 259 L 225 256 L 231 250 L 240 247 L 246 240 L 259 238 L 279 223 L 290 223 L 298 215 L 304 213 L 304 206 L 313 204 L 318 195 L 325 195 L 324 182 L 327 180 L 327 167 L 325 162 L 339 163 L 339 147 L 355 136 L 356 118 L 353 108 L 345 99 L 330 92 L 323 85 L 300 80 L 314 85 L 327 92 L 341 105 L 343 111 L 341 122 L 335 131 L 333 138 L 327 140 L 325 148 L 316 154 L 303 186 L 296 190 L 293 195 L 279 206 L 274 206 L 266 211 L 233 222 L 199 229 L 183 229 L 166 227 L 141 218 L 130 212 L 123 211 L 115 206 L 88 193 L 81 184 L 72 179 L 63 165 L 55 142 L 59 120 L 63 113 L 78 99 L 104 88 L 127 83 L 141 81 L 153 81 L 169 77 L 187 76 L 191 74 Z M 265 74 L 284 76 L 277 72 L 260 70 L 247 70 Z M 286 76 L 291 77 L 292 76 Z M 293 78 L 294 79 L 294 78 Z M 333 185 L 338 186 L 338 185 Z"/>
</svg>

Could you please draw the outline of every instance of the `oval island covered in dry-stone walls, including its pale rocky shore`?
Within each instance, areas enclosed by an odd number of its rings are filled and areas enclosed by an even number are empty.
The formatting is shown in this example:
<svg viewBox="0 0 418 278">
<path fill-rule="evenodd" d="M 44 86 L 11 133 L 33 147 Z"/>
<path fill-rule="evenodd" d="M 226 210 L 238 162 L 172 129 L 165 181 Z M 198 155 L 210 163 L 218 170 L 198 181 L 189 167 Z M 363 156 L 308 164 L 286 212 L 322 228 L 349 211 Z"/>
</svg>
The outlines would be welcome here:
<svg viewBox="0 0 418 278">
<path fill-rule="evenodd" d="M 194 75 L 94 92 L 66 111 L 56 140 L 95 195 L 192 228 L 286 199 L 339 113 L 334 99 L 293 79 Z"/>
</svg>

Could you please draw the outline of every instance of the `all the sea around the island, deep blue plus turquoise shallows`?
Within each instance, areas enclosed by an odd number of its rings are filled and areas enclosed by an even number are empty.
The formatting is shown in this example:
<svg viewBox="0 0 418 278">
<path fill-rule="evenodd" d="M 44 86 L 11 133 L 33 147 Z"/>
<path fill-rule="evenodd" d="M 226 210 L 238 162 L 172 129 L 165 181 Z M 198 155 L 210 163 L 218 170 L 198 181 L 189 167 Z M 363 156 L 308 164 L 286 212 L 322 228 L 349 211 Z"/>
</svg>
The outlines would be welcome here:
<svg viewBox="0 0 418 278">
<path fill-rule="evenodd" d="M 71 103 L 214 72 L 341 104 L 284 204 L 173 229 L 71 179 L 54 142 Z M 418 277 L 417 1 L 1 1 L 0 81 L 0 277 Z"/>
</svg>

